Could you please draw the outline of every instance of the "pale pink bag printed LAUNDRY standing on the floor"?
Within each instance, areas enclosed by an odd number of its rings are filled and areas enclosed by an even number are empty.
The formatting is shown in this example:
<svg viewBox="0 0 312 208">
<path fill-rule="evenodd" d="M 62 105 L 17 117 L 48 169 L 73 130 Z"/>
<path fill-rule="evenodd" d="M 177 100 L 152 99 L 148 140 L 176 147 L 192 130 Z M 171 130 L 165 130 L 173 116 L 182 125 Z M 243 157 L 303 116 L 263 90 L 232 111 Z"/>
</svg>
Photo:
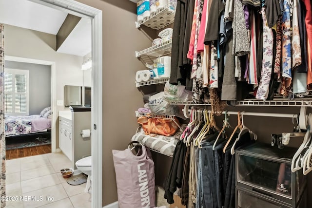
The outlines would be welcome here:
<svg viewBox="0 0 312 208">
<path fill-rule="evenodd" d="M 119 208 L 154 208 L 155 167 L 150 150 L 133 141 L 125 150 L 113 150 L 113 160 Z"/>
</svg>

